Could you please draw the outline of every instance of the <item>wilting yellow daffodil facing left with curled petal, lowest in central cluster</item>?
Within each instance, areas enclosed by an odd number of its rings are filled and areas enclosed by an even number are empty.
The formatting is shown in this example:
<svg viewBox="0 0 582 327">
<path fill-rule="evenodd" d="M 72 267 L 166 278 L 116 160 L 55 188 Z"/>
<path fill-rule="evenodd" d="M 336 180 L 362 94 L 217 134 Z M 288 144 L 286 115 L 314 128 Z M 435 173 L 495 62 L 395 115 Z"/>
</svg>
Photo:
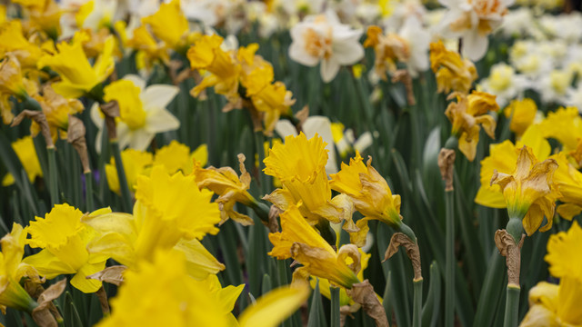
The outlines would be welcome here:
<svg viewBox="0 0 582 327">
<path fill-rule="evenodd" d="M 273 250 L 268 253 L 279 260 L 293 258 L 304 266 L 294 276 L 314 275 L 350 289 L 360 282 L 360 253 L 353 244 L 342 246 L 336 253 L 329 243 L 306 222 L 295 204 L 281 213 L 281 233 L 269 233 Z"/>
</svg>

